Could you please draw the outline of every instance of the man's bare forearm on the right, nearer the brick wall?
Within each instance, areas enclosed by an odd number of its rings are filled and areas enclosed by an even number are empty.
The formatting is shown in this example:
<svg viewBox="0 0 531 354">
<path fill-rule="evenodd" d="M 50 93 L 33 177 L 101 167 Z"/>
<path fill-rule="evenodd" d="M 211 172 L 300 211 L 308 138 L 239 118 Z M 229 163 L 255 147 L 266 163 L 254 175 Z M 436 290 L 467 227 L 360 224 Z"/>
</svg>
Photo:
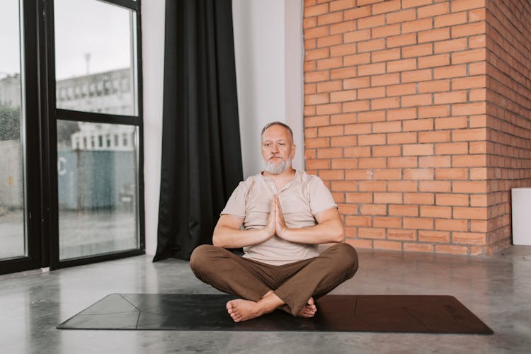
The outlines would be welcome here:
<svg viewBox="0 0 531 354">
<path fill-rule="evenodd" d="M 331 242 L 343 242 L 345 239 L 344 230 L 343 224 L 333 220 L 311 227 L 285 228 L 278 236 L 297 244 L 329 244 Z"/>
</svg>

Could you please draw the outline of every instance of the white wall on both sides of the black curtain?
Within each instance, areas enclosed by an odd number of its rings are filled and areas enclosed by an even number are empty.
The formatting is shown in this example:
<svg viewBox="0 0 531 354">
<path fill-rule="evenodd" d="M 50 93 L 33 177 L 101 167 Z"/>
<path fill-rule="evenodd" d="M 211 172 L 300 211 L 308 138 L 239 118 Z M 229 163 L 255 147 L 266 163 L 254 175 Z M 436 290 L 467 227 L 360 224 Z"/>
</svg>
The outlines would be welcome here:
<svg viewBox="0 0 531 354">
<path fill-rule="evenodd" d="M 302 1 L 233 0 L 244 178 L 261 171 L 260 131 L 273 120 L 293 130 L 304 169 Z M 156 251 L 164 86 L 164 0 L 142 1 L 146 253 Z"/>
</svg>

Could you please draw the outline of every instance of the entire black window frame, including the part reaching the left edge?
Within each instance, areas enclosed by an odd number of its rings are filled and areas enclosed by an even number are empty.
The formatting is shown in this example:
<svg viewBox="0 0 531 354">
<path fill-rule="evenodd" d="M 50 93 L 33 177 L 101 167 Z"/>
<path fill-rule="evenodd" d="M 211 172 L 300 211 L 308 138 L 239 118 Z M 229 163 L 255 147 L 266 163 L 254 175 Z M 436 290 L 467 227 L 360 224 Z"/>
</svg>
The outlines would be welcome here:
<svg viewBox="0 0 531 354">
<path fill-rule="evenodd" d="M 23 0 L 25 71 L 25 219 L 27 256 L 0 260 L 0 274 L 37 268 L 66 268 L 145 253 L 144 124 L 142 99 L 141 1 L 93 0 L 135 11 L 137 40 L 136 115 L 88 113 L 56 108 L 54 0 Z M 59 101 L 60 98 L 57 98 Z M 132 125 L 137 127 L 137 249 L 59 260 L 59 202 L 57 185 L 57 120 Z"/>
</svg>

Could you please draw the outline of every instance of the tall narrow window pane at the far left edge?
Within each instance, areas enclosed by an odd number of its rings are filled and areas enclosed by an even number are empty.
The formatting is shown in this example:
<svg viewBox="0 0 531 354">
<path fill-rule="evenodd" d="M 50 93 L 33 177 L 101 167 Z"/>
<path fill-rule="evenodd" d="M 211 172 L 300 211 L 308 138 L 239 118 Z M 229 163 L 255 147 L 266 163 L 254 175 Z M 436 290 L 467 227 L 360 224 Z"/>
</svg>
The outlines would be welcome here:
<svg viewBox="0 0 531 354">
<path fill-rule="evenodd" d="M 27 255 L 18 0 L 0 11 L 0 258 Z"/>
</svg>

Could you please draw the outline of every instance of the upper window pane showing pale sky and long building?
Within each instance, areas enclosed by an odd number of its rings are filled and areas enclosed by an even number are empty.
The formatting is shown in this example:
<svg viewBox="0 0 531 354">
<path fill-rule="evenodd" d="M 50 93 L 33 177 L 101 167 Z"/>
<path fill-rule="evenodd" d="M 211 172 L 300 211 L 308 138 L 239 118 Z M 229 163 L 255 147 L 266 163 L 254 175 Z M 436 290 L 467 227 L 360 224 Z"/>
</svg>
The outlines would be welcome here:
<svg viewBox="0 0 531 354">
<path fill-rule="evenodd" d="M 135 11 L 55 0 L 57 108 L 137 114 Z"/>
</svg>

